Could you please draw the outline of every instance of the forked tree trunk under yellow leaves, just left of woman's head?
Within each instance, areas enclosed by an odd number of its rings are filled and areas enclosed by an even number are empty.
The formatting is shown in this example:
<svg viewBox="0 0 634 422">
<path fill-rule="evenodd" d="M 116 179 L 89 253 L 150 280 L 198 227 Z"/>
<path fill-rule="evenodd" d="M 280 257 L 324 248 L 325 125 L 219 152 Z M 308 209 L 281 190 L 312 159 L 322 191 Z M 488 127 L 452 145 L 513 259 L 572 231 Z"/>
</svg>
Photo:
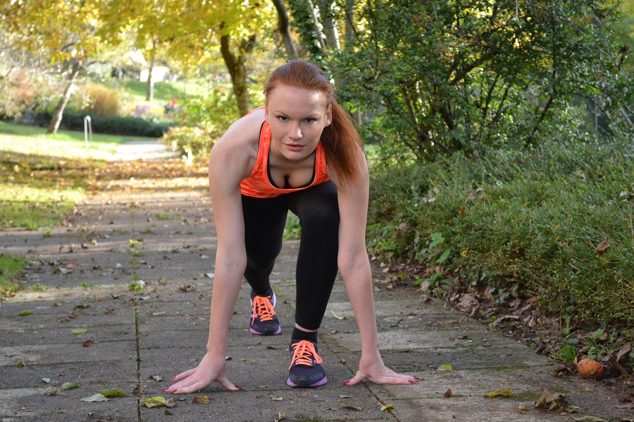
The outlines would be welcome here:
<svg viewBox="0 0 634 422">
<path fill-rule="evenodd" d="M 249 89 L 247 89 L 247 67 L 245 66 L 245 60 L 247 53 L 253 49 L 253 44 L 256 41 L 256 35 L 251 35 L 248 40 L 242 40 L 241 46 L 238 46 L 238 55 L 233 52 L 231 48 L 231 36 L 223 35 L 220 37 L 220 51 L 223 54 L 224 63 L 231 75 L 231 84 L 233 85 L 233 93 L 238 101 L 238 109 L 240 110 L 240 116 L 249 113 L 251 111 L 251 99 L 249 97 Z"/>
</svg>

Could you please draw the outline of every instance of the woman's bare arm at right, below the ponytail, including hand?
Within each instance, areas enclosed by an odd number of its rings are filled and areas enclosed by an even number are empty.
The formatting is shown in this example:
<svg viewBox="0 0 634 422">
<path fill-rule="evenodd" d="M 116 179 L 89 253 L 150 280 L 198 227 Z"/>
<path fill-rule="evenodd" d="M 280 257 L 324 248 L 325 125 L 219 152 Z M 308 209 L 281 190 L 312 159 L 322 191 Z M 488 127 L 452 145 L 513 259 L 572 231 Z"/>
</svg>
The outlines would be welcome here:
<svg viewBox="0 0 634 422">
<path fill-rule="evenodd" d="M 372 291 L 372 271 L 365 245 L 365 229 L 368 215 L 368 167 L 365 157 L 359 154 L 358 165 L 363 174 L 359 184 L 337 183 L 339 200 L 339 256 L 337 264 L 344 279 L 354 317 L 361 335 L 361 361 L 359 371 L 346 385 L 353 385 L 369 378 L 377 384 L 408 384 L 419 378 L 397 374 L 386 368 L 381 358 L 377 333 L 377 321 Z"/>
</svg>

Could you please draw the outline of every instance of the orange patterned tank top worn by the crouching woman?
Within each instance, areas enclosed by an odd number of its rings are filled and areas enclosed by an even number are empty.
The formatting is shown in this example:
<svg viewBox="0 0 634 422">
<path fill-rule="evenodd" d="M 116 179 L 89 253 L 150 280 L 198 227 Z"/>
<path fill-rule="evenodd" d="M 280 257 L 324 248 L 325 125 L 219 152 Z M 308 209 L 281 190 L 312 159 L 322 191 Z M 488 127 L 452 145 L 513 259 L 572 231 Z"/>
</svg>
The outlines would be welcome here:
<svg viewBox="0 0 634 422">
<path fill-rule="evenodd" d="M 242 195 L 254 196 L 255 198 L 275 198 L 276 196 L 284 195 L 285 193 L 301 191 L 302 189 L 307 189 L 311 186 L 328 181 L 328 174 L 326 171 L 326 154 L 320 142 L 317 144 L 317 149 L 315 150 L 313 180 L 309 184 L 300 186 L 299 188 L 278 188 L 273 185 L 273 183 L 271 183 L 271 179 L 269 179 L 268 172 L 270 146 L 271 127 L 269 127 L 268 122 L 264 122 L 262 123 L 262 129 L 260 129 L 256 164 L 253 166 L 250 176 L 240 182 L 240 191 L 242 192 Z"/>
</svg>

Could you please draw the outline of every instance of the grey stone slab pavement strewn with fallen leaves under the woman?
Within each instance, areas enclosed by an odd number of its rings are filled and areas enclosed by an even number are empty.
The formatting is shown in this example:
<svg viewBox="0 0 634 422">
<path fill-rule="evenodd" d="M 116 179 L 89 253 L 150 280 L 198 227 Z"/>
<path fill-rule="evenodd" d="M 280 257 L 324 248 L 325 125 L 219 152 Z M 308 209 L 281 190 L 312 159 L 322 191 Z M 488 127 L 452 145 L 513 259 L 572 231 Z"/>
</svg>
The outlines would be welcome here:
<svg viewBox="0 0 634 422">
<path fill-rule="evenodd" d="M 127 153 L 147 158 L 136 147 Z M 285 243 L 272 276 L 282 335 L 250 335 L 250 289 L 243 284 L 240 291 L 227 374 L 244 390 L 205 388 L 198 394 L 208 404 L 192 402 L 195 394 L 162 392 L 169 378 L 197 366 L 207 342 L 216 233 L 206 182 L 192 185 L 113 181 L 81 203 L 67 226 L 46 234 L 0 232 L 3 253 L 32 260 L 25 276 L 32 288 L 0 307 L 0 421 L 275 421 L 280 412 L 285 421 L 631 420 L 602 383 L 573 374 L 554 378 L 552 362 L 525 345 L 415 290 L 384 290 L 380 279 L 375 300 L 384 361 L 423 379 L 406 386 L 340 384 L 358 368 L 360 347 L 339 280 L 320 330 L 328 383 L 287 387 L 297 241 Z M 453 370 L 437 371 L 444 364 Z M 79 387 L 65 390 L 67 382 Z M 507 387 L 509 397 L 483 397 Z M 81 400 L 110 388 L 130 397 Z M 543 390 L 581 409 L 571 416 L 533 409 Z M 159 395 L 176 406 L 141 406 Z M 393 408 L 382 411 L 386 405 Z M 518 407 L 528 410 L 511 410 Z"/>
</svg>

